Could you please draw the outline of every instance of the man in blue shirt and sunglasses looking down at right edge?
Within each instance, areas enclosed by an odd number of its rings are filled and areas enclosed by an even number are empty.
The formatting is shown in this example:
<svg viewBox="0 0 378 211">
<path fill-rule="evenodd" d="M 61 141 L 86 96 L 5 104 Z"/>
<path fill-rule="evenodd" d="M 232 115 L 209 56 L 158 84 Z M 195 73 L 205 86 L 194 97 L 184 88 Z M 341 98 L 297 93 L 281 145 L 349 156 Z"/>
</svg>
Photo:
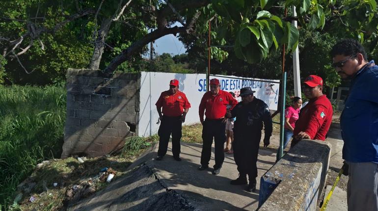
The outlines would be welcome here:
<svg viewBox="0 0 378 211">
<path fill-rule="evenodd" d="M 333 67 L 342 79 L 351 79 L 341 114 L 344 140 L 343 169 L 349 175 L 348 210 L 378 210 L 378 66 L 368 61 L 357 41 L 345 39 L 333 46 Z"/>
</svg>

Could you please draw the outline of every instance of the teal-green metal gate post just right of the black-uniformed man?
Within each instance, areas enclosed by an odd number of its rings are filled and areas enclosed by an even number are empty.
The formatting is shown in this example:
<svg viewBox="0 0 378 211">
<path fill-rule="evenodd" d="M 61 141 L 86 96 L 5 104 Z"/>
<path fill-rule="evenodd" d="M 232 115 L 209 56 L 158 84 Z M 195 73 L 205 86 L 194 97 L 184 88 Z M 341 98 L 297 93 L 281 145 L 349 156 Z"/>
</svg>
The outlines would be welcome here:
<svg viewBox="0 0 378 211">
<path fill-rule="evenodd" d="M 284 142 L 284 124 L 285 124 L 285 98 L 286 98 L 286 72 L 282 74 L 282 82 L 281 82 L 281 115 L 280 115 L 280 134 L 279 134 L 279 148 L 277 152 L 277 161 L 282 158 L 283 156 L 283 142 Z"/>
</svg>

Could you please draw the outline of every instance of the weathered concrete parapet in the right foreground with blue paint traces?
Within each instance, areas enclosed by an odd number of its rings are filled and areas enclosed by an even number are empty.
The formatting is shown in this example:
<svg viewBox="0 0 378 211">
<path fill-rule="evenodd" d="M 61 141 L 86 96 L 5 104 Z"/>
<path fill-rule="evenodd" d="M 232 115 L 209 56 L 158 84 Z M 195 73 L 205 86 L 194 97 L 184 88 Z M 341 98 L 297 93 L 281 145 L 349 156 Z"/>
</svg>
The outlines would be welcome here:
<svg viewBox="0 0 378 211">
<path fill-rule="evenodd" d="M 330 149 L 325 141 L 300 141 L 261 177 L 259 211 L 317 210 Z"/>
</svg>

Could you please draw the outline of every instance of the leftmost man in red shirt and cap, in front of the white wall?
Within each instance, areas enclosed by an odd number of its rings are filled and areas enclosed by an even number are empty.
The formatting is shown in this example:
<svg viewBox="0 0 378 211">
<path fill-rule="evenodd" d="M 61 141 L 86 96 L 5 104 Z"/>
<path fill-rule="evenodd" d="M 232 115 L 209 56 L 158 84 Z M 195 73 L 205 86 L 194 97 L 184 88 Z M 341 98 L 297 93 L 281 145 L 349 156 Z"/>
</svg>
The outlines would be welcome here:
<svg viewBox="0 0 378 211">
<path fill-rule="evenodd" d="M 173 79 L 169 82 L 169 90 L 162 92 L 156 102 L 159 118 L 159 150 L 157 160 L 161 160 L 166 154 L 169 137 L 172 133 L 173 158 L 180 161 L 180 139 L 182 136 L 181 126 L 189 111 L 190 103 L 187 96 L 179 90 L 179 81 Z"/>
</svg>

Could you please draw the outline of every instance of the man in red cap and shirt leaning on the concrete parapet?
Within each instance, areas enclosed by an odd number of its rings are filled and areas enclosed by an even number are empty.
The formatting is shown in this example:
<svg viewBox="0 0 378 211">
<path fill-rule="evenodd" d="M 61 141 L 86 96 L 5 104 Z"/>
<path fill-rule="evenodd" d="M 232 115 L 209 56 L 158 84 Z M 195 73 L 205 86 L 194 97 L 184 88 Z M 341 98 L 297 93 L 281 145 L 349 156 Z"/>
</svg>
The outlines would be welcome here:
<svg viewBox="0 0 378 211">
<path fill-rule="evenodd" d="M 333 109 L 331 102 L 323 94 L 323 79 L 315 75 L 307 77 L 303 93 L 309 102 L 299 113 L 291 147 L 302 139 L 324 141 L 332 122 Z"/>
</svg>

